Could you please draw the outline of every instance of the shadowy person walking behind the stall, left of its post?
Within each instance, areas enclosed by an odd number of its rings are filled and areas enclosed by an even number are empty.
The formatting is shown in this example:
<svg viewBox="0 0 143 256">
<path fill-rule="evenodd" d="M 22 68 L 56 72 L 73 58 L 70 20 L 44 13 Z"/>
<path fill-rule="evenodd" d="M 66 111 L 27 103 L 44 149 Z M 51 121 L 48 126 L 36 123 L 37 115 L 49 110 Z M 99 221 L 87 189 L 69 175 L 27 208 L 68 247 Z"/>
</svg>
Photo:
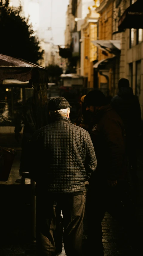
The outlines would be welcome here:
<svg viewBox="0 0 143 256">
<path fill-rule="evenodd" d="M 23 137 L 21 142 L 21 159 L 19 167 L 19 177 L 16 179 L 17 183 L 24 183 L 22 172 L 26 172 L 27 166 L 25 160 L 27 159 L 28 142 L 32 138 L 33 133 L 36 131 L 36 108 L 34 97 L 27 99 L 26 103 L 22 106 L 21 112 L 15 120 L 15 139 L 19 143 L 21 137 L 20 132 L 23 128 Z"/>
</svg>

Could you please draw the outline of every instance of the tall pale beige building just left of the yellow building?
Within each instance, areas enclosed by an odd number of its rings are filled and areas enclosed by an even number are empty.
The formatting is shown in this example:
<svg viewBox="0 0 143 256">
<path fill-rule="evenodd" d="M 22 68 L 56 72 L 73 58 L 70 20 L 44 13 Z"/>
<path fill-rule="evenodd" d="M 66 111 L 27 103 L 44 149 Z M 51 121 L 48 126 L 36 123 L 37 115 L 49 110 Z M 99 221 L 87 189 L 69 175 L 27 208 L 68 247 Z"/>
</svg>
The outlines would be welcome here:
<svg viewBox="0 0 143 256">
<path fill-rule="evenodd" d="M 83 75 L 83 56 L 84 48 L 81 41 L 82 25 L 85 23 L 85 18 L 89 13 L 88 7 L 94 5 L 95 1 L 91 0 L 70 0 L 67 8 L 66 30 L 65 30 L 65 47 L 71 48 L 74 68 L 78 75 Z M 82 49 L 82 48 L 83 49 Z M 94 48 L 94 47 L 93 47 Z M 67 62 L 68 65 L 68 62 Z"/>
</svg>

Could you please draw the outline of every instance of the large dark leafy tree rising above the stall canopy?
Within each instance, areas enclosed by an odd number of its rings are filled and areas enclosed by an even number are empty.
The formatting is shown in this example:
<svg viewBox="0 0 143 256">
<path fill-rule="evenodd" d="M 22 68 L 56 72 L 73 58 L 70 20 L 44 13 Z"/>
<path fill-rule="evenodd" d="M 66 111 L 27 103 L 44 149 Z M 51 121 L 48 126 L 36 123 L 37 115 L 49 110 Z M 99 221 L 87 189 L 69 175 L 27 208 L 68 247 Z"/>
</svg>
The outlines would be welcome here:
<svg viewBox="0 0 143 256">
<path fill-rule="evenodd" d="M 0 0 L 0 53 L 37 63 L 43 59 L 38 38 L 28 18 L 22 16 L 21 5 L 11 7 L 9 0 Z"/>
</svg>

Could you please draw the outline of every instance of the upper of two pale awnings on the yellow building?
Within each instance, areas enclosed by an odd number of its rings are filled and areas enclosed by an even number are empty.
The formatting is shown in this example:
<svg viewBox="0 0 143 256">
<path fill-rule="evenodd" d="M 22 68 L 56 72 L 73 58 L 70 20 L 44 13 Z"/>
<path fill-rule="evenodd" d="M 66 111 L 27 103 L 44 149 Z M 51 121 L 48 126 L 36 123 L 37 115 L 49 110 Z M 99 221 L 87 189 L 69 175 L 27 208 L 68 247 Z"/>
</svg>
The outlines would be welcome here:
<svg viewBox="0 0 143 256">
<path fill-rule="evenodd" d="M 106 50 L 109 53 L 115 54 L 121 50 L 120 40 L 94 40 L 91 42 L 99 49 Z"/>
</svg>

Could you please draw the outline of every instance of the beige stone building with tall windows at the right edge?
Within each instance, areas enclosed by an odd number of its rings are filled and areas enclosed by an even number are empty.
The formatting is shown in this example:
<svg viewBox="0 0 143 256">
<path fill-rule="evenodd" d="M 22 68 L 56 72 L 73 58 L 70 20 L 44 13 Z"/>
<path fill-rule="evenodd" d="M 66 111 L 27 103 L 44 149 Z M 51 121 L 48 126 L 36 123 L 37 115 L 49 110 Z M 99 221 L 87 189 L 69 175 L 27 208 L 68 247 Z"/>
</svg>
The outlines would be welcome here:
<svg viewBox="0 0 143 256">
<path fill-rule="evenodd" d="M 113 3 L 113 39 L 121 40 L 116 91 L 118 90 L 117 81 L 120 78 L 129 79 L 130 87 L 133 88 L 134 94 L 139 99 L 143 117 L 143 29 L 130 28 L 125 29 L 124 32 L 114 34 L 114 32 L 118 31 L 118 21 L 123 12 L 135 2 L 136 0 L 115 0 Z"/>
</svg>

